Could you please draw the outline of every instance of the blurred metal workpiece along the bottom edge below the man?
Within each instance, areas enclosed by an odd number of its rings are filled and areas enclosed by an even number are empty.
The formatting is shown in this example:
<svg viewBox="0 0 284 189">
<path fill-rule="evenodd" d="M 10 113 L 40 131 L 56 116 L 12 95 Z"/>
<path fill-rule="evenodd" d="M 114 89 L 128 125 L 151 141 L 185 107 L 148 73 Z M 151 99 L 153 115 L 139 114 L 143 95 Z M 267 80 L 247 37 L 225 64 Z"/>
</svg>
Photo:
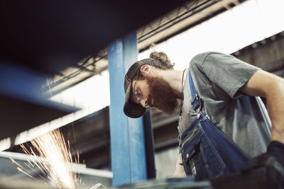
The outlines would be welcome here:
<svg viewBox="0 0 284 189">
<path fill-rule="evenodd" d="M 131 185 L 123 185 L 119 188 L 167 188 L 167 189 L 264 189 L 271 187 L 268 184 L 268 176 L 266 168 L 256 168 L 247 173 L 235 173 L 230 176 L 220 176 L 207 181 L 195 181 L 195 178 L 187 176 L 185 178 L 168 178 L 163 180 L 148 180 L 141 183 Z M 272 187 L 273 188 L 273 187 Z"/>
</svg>

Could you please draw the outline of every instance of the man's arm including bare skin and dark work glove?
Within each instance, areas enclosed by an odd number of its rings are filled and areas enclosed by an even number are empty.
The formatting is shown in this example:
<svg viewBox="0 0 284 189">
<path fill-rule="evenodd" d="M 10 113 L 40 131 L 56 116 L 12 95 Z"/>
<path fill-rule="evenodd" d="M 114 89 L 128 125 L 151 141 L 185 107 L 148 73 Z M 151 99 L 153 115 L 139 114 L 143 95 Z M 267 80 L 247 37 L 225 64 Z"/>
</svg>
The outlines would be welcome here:
<svg viewBox="0 0 284 189">
<path fill-rule="evenodd" d="M 284 187 L 284 80 L 266 71 L 256 71 L 240 89 L 249 96 L 265 96 L 271 117 L 272 142 L 264 154 L 256 156 L 241 167 L 243 173 L 266 170 L 269 188 Z"/>
</svg>

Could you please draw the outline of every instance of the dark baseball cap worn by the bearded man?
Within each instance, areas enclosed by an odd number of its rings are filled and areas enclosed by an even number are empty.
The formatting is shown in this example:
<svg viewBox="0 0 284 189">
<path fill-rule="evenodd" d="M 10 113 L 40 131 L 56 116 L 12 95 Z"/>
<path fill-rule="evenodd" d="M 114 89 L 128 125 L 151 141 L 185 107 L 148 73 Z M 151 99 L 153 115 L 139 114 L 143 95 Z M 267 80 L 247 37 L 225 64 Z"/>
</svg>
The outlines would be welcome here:
<svg viewBox="0 0 284 189">
<path fill-rule="evenodd" d="M 154 62 L 158 63 L 158 60 L 148 58 L 148 59 L 142 59 L 137 62 L 135 62 L 130 68 L 129 71 L 125 74 L 124 78 L 124 93 L 125 93 L 125 101 L 124 101 L 124 114 L 127 115 L 130 118 L 139 118 L 141 117 L 145 111 L 146 108 L 144 108 L 141 104 L 134 103 L 131 101 L 130 97 L 132 95 L 132 79 L 136 74 L 138 74 L 138 71 L 140 71 L 140 68 L 144 64 L 150 64 L 153 65 Z"/>
</svg>

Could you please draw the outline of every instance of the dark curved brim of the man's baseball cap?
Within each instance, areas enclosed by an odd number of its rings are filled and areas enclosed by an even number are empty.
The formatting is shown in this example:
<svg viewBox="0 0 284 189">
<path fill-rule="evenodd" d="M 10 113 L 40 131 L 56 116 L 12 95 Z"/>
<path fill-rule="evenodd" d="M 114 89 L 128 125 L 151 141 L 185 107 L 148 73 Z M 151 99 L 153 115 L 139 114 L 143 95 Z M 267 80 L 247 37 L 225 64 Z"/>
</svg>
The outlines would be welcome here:
<svg viewBox="0 0 284 189">
<path fill-rule="evenodd" d="M 131 101 L 130 96 L 131 96 L 131 84 L 129 85 L 125 93 L 124 113 L 130 118 L 139 118 L 145 113 L 146 108 L 143 108 L 142 105 Z"/>
</svg>

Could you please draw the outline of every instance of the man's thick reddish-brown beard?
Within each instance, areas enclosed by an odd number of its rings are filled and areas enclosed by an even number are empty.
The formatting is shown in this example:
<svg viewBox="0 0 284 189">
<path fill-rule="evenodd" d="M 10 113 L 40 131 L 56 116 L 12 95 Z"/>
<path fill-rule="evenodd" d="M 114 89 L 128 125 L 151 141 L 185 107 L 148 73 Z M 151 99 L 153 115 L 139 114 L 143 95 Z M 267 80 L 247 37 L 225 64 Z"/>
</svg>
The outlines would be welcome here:
<svg viewBox="0 0 284 189">
<path fill-rule="evenodd" d="M 146 81 L 150 91 L 148 103 L 167 115 L 175 113 L 179 103 L 170 84 L 159 77 L 146 76 Z"/>
</svg>

